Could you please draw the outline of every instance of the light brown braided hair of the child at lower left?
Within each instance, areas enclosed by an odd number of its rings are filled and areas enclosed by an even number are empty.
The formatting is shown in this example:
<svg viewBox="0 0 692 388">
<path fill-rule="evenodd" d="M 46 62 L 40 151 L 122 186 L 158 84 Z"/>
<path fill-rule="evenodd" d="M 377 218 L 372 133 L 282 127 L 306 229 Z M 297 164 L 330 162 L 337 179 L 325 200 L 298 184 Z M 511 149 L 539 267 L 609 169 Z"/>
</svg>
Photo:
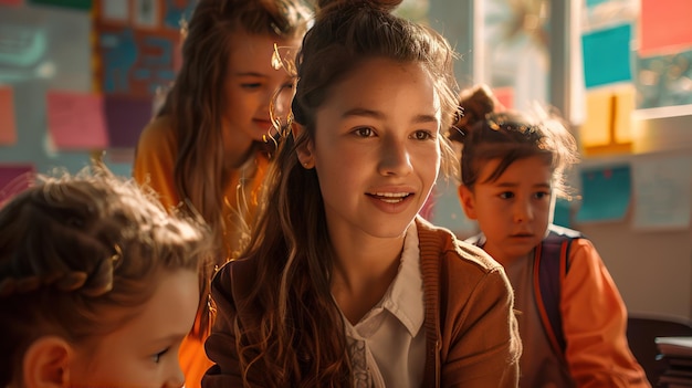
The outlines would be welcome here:
<svg viewBox="0 0 692 388">
<path fill-rule="evenodd" d="M 36 338 L 97 340 L 138 314 L 165 273 L 197 272 L 208 237 L 105 167 L 40 176 L 0 208 L 0 386 Z"/>
</svg>

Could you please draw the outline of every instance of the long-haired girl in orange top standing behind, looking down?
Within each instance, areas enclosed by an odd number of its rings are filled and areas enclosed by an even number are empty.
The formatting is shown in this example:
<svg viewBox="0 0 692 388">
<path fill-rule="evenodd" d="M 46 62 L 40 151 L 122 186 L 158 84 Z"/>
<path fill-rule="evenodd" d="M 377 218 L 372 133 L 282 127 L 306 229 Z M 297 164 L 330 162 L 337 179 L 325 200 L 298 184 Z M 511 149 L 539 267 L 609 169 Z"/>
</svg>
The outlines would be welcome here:
<svg viewBox="0 0 692 388">
<path fill-rule="evenodd" d="M 182 67 L 162 108 L 140 135 L 134 176 L 167 207 L 203 217 L 217 258 L 206 263 L 198 319 L 180 361 L 187 388 L 211 365 L 208 282 L 237 258 L 269 165 L 270 105 L 285 116 L 293 75 L 276 54 L 295 53 L 308 9 L 300 0 L 200 0 L 187 24 Z M 285 123 L 285 122 L 284 122 Z"/>
</svg>

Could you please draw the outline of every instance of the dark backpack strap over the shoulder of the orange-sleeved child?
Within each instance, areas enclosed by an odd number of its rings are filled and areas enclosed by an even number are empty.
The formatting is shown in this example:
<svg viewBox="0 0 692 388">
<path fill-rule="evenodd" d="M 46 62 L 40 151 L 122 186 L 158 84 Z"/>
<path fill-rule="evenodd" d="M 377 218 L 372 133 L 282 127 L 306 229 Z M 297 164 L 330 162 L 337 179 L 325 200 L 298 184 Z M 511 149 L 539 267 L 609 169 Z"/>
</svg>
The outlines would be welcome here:
<svg viewBox="0 0 692 388">
<path fill-rule="evenodd" d="M 581 233 L 557 226 L 548 227 L 548 235 L 536 247 L 534 292 L 538 314 L 551 345 L 558 355 L 565 354 L 566 340 L 559 310 L 563 279 L 569 271 L 569 247 Z"/>
</svg>

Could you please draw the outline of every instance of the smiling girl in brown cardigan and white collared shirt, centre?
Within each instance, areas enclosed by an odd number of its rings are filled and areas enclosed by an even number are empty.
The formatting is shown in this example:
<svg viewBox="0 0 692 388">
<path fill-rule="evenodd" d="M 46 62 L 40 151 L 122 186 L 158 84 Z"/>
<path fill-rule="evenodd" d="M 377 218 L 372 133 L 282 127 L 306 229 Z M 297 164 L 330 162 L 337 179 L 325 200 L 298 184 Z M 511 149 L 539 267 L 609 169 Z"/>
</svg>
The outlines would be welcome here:
<svg viewBox="0 0 692 388">
<path fill-rule="evenodd" d="M 399 2 L 319 1 L 250 245 L 212 282 L 202 387 L 516 386 L 502 268 L 417 217 L 453 166 L 453 52 Z"/>
</svg>

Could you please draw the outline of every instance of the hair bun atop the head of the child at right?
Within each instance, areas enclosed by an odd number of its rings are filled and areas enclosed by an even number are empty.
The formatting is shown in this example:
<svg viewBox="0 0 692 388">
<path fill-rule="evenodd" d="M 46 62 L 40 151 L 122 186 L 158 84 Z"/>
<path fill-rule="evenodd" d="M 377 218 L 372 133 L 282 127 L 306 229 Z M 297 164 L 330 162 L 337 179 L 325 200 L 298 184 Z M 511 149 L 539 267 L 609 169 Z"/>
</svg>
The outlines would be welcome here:
<svg viewBox="0 0 692 388">
<path fill-rule="evenodd" d="M 475 123 L 484 120 L 487 114 L 501 108 L 502 104 L 490 86 L 479 84 L 463 90 L 459 94 L 459 112 L 450 128 L 450 139 L 464 143 L 465 135 Z"/>
</svg>

